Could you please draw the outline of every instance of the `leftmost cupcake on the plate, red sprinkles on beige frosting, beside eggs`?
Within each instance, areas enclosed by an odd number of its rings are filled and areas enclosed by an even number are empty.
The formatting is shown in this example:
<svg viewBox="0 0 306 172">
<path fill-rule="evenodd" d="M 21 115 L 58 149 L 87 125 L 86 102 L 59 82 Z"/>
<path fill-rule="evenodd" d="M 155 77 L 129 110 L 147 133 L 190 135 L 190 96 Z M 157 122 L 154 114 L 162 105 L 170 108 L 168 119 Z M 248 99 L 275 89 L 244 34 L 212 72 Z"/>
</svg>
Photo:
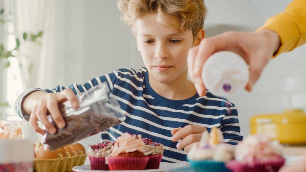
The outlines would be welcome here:
<svg viewBox="0 0 306 172">
<path fill-rule="evenodd" d="M 89 145 L 88 157 L 92 170 L 109 170 L 105 164 L 105 157 L 112 152 L 114 142 L 102 142 Z"/>
</svg>

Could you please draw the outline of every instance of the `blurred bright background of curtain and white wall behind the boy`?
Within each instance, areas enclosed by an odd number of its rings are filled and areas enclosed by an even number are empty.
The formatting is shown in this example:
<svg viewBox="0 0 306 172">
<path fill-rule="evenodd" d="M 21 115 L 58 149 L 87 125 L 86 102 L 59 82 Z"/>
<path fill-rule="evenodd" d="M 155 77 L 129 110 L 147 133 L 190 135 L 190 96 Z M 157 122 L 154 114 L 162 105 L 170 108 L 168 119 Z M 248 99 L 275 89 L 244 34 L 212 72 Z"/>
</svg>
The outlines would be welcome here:
<svg viewBox="0 0 306 172">
<path fill-rule="evenodd" d="M 205 0 L 206 37 L 228 30 L 255 31 L 291 0 Z M 143 65 L 116 0 L 0 0 L 0 115 L 13 111 L 23 91 L 82 84 L 122 67 Z M 269 62 L 251 93 L 228 97 L 239 113 L 241 134 L 257 114 L 306 108 L 306 45 Z M 40 140 L 25 125 L 25 136 Z M 98 143 L 97 134 L 81 143 Z"/>
</svg>

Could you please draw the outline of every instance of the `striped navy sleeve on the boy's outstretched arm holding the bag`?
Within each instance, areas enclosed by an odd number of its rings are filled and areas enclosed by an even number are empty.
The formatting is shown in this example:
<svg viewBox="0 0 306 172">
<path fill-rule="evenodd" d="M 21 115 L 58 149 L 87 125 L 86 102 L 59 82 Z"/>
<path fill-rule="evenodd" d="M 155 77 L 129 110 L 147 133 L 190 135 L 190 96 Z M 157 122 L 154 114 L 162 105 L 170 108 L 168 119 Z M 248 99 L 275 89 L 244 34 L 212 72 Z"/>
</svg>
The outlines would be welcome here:
<svg viewBox="0 0 306 172">
<path fill-rule="evenodd" d="M 99 85 L 103 82 L 107 82 L 108 88 L 112 91 L 114 83 L 115 83 L 116 78 L 117 78 L 116 75 L 115 75 L 115 72 L 112 72 L 112 73 L 109 73 L 109 74 L 106 74 L 106 75 L 103 75 L 103 76 L 100 76 L 100 77 L 93 78 L 92 80 L 89 80 L 88 82 L 86 82 L 83 85 L 73 83 L 73 84 L 69 85 L 68 87 L 58 85 L 53 89 L 31 88 L 31 89 L 25 91 L 24 93 L 22 93 L 20 96 L 18 96 L 18 98 L 16 99 L 16 102 L 15 102 L 14 111 L 19 117 L 23 118 L 26 121 L 29 121 L 30 116 L 26 115 L 22 110 L 22 102 L 23 102 L 24 97 L 26 97 L 27 95 L 29 95 L 33 91 L 45 91 L 45 92 L 48 92 L 48 93 L 51 93 L 51 92 L 56 93 L 56 92 L 61 92 L 61 91 L 65 90 L 66 88 L 70 88 L 74 92 L 74 94 L 77 95 L 77 94 L 80 94 L 81 92 L 89 90 L 92 86 Z"/>
</svg>

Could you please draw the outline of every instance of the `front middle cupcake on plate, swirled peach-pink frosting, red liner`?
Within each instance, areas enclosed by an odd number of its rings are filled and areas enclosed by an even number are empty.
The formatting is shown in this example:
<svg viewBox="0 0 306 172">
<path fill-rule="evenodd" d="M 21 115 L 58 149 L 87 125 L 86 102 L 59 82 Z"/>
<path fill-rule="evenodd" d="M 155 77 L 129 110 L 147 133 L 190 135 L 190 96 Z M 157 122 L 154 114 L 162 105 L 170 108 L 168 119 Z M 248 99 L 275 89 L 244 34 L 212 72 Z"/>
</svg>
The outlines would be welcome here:
<svg viewBox="0 0 306 172">
<path fill-rule="evenodd" d="M 108 160 L 110 170 L 143 170 L 149 157 L 145 153 L 145 143 L 141 135 L 124 133 L 118 137 Z"/>
</svg>

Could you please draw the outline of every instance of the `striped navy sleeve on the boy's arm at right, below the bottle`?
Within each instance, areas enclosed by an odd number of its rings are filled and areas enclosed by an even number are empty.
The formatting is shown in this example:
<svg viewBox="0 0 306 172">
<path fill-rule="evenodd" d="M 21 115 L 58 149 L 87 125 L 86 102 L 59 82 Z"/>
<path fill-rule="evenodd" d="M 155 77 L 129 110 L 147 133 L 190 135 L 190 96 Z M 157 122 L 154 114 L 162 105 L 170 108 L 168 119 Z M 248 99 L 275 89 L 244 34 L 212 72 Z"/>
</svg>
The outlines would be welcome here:
<svg viewBox="0 0 306 172">
<path fill-rule="evenodd" d="M 236 145 L 242 140 L 240 135 L 240 124 L 238 120 L 237 108 L 234 104 L 229 108 L 221 123 L 220 129 L 224 136 L 224 142 Z"/>
</svg>

